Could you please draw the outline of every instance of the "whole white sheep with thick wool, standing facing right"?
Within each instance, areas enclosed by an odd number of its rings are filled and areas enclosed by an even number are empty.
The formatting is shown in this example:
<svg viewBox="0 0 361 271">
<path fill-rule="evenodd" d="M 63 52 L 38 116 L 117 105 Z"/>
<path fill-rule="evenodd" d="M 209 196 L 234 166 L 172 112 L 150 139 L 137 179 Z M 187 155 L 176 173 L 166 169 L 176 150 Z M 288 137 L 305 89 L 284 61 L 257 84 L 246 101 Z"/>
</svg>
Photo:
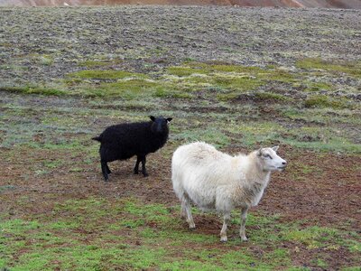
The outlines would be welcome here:
<svg viewBox="0 0 361 271">
<path fill-rule="evenodd" d="M 227 241 L 227 224 L 236 207 L 241 208 L 240 237 L 245 237 L 245 219 L 250 207 L 261 200 L 273 171 L 287 162 L 276 154 L 278 146 L 251 154 L 231 156 L 204 142 L 181 145 L 171 160 L 173 190 L 181 202 L 181 216 L 195 229 L 190 202 L 201 210 L 217 210 L 224 217 L 220 240 Z"/>
</svg>

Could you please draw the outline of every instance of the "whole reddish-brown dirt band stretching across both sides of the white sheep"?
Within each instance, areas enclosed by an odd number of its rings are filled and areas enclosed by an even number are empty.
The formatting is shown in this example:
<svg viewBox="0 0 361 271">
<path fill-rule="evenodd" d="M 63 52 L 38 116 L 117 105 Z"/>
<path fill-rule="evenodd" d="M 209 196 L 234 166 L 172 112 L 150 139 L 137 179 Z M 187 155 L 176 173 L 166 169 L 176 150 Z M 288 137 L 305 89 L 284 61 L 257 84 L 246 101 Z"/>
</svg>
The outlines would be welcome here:
<svg viewBox="0 0 361 271">
<path fill-rule="evenodd" d="M 236 154 L 237 151 L 232 150 L 230 153 Z M 292 150 L 291 147 L 280 148 L 280 154 L 289 161 L 289 166 L 302 164 L 314 170 L 304 173 L 302 169 L 293 167 L 292 172 L 286 170 L 273 173 L 264 198 L 255 210 L 281 214 L 282 220 L 318 221 L 323 226 L 342 224 L 348 229 L 361 229 L 361 173 L 356 167 L 361 164 L 361 157 L 325 154 L 319 158 L 317 153 Z M 42 161 L 51 158 L 49 153 L 44 156 L 42 151 L 33 155 L 37 157 L 39 168 L 42 167 Z M 55 160 L 57 154 L 54 152 L 51 155 Z M 81 160 L 81 157 L 78 159 Z M 110 164 L 113 170 L 110 182 L 104 182 L 97 164 L 84 165 L 80 173 L 61 168 L 36 176 L 21 162 L 9 165 L 0 161 L 0 185 L 14 186 L 14 189 L 2 192 L 3 199 L 9 201 L 3 201 L 7 204 L 2 204 L 1 208 L 2 211 L 16 210 L 16 216 L 46 213 L 51 211 L 53 200 L 84 199 L 90 195 L 108 199 L 135 196 L 145 202 L 176 205 L 178 201 L 172 192 L 170 163 L 163 160 L 160 153 L 150 154 L 147 163 L 150 177 L 144 178 L 142 174 L 133 174 L 134 159 L 114 162 Z M 51 197 L 44 201 L 47 194 Z M 52 199 L 54 195 L 59 198 Z M 14 198 L 26 196 L 34 204 L 28 204 L 25 209 L 12 206 Z M 199 223 L 203 224 L 199 228 L 207 227 L 208 224 L 201 220 Z"/>
</svg>

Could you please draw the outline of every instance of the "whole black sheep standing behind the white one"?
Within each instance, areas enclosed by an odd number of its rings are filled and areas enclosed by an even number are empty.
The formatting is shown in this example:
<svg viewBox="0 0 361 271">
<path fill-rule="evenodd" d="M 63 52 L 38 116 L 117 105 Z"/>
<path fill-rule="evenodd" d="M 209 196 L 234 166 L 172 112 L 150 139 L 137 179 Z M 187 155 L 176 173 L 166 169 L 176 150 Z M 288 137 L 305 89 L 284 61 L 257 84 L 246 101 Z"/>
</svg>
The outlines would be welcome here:
<svg viewBox="0 0 361 271">
<path fill-rule="evenodd" d="M 168 124 L 171 117 L 153 117 L 152 121 L 129 124 L 119 124 L 107 127 L 104 132 L 93 137 L 100 142 L 100 164 L 105 180 L 111 173 L 108 162 L 125 160 L 136 155 L 134 174 L 139 173 L 139 164 L 142 162 L 143 176 L 148 176 L 145 169 L 145 156 L 155 153 L 168 139 Z"/>
</svg>

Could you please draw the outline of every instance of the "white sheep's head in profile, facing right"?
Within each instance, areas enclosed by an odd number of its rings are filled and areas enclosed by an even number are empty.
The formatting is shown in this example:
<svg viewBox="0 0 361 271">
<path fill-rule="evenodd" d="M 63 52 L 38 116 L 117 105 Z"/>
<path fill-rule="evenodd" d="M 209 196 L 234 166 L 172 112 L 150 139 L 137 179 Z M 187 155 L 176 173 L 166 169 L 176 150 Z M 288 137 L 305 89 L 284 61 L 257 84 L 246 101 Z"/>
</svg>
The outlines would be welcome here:
<svg viewBox="0 0 361 271">
<path fill-rule="evenodd" d="M 262 148 L 257 151 L 261 159 L 264 171 L 282 171 L 286 168 L 287 162 L 276 154 L 278 146 L 273 148 Z"/>
</svg>

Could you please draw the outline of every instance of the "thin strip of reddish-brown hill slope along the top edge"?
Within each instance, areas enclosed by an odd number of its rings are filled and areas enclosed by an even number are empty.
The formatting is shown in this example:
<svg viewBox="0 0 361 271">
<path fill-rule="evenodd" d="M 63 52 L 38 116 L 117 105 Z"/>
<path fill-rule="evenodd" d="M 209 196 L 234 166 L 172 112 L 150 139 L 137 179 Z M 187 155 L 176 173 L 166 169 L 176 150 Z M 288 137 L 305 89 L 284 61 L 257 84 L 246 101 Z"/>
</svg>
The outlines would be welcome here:
<svg viewBox="0 0 361 271">
<path fill-rule="evenodd" d="M 360 0 L 0 0 L 0 5 L 61 6 L 61 5 L 239 5 L 361 8 Z"/>
</svg>

